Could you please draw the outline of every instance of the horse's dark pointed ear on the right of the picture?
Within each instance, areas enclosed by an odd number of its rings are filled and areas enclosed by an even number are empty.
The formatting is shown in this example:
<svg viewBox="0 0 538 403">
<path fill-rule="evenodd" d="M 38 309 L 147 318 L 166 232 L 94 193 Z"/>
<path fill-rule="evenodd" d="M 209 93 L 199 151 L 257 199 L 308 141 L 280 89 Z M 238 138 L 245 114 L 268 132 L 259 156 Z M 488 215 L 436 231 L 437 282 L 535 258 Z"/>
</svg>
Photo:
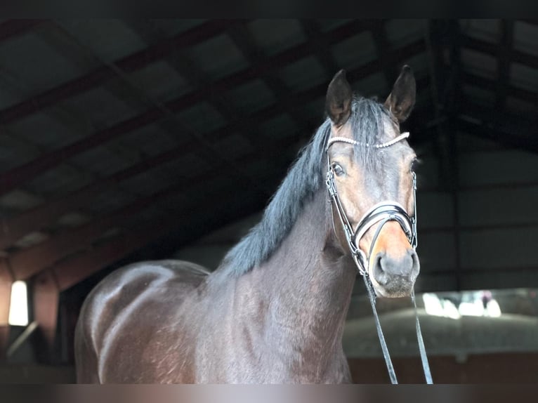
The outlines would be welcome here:
<svg viewBox="0 0 538 403">
<path fill-rule="evenodd" d="M 391 95 L 388 95 L 385 101 L 385 107 L 402 123 L 411 114 L 415 99 L 416 82 L 414 81 L 413 70 L 408 65 L 405 65 L 394 83 Z"/>
</svg>

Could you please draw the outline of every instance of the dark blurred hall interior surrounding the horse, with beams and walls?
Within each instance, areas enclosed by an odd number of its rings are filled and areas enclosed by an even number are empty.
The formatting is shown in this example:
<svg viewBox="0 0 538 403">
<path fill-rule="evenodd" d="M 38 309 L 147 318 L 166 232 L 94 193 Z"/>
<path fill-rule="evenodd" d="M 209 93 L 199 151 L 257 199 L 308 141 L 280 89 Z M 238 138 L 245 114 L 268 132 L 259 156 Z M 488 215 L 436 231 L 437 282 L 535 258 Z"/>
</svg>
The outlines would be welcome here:
<svg viewBox="0 0 538 403">
<path fill-rule="evenodd" d="M 384 100 L 417 168 L 417 304 L 434 381 L 538 376 L 537 20 L 0 20 L 0 382 L 74 381 L 87 293 L 117 267 L 213 270 L 324 120 L 341 68 Z M 421 383 L 407 299 L 379 300 Z M 362 282 L 344 349 L 387 383 Z"/>
</svg>

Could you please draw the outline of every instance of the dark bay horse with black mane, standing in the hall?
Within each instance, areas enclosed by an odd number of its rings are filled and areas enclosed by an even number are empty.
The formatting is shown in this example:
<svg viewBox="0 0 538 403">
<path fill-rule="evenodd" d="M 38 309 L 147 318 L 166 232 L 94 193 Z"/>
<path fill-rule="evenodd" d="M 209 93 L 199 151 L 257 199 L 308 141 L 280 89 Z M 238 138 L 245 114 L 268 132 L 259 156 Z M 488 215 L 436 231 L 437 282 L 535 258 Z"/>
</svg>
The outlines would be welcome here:
<svg viewBox="0 0 538 403">
<path fill-rule="evenodd" d="M 400 122 L 415 92 L 407 66 L 385 103 L 353 95 L 337 73 L 327 120 L 217 270 L 136 263 L 91 291 L 75 335 L 77 381 L 349 383 L 341 339 L 357 275 L 350 247 L 378 296 L 409 296 L 419 259 L 396 220 L 370 224 L 350 246 L 325 178 L 353 233 L 382 202 L 413 216 L 416 156 Z"/>
</svg>

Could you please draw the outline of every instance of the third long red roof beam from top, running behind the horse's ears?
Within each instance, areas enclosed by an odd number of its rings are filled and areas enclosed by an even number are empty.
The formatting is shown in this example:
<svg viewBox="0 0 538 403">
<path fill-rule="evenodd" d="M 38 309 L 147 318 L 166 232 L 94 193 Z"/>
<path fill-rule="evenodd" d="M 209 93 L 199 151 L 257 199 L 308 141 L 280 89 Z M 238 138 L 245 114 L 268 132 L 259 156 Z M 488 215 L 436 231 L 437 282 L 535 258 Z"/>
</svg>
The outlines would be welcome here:
<svg viewBox="0 0 538 403">
<path fill-rule="evenodd" d="M 425 44 L 424 41 L 416 41 L 405 48 L 402 48 L 399 53 L 399 60 L 405 60 L 412 55 L 424 51 Z M 367 75 L 372 74 L 379 68 L 379 62 L 374 60 L 367 65 L 357 67 L 348 72 L 348 79 L 350 82 L 356 81 L 367 77 Z M 280 104 L 270 105 L 265 107 L 265 109 L 255 112 L 247 117 L 240 117 L 237 121 L 232 122 L 231 124 L 218 128 L 211 133 L 207 133 L 205 136 L 209 140 L 214 139 L 223 139 L 226 136 L 230 136 L 230 133 L 233 133 L 240 126 L 245 126 L 249 124 L 258 125 L 261 121 L 275 117 L 277 114 L 284 112 L 289 109 L 292 110 L 302 105 L 305 102 L 313 100 L 317 97 L 320 97 L 327 90 L 327 84 L 320 84 L 313 88 L 309 88 L 306 91 L 297 93 L 294 95 L 289 95 L 287 100 L 283 101 Z M 4 234 L 0 237 L 0 249 L 6 249 L 8 246 L 13 245 L 20 237 L 32 232 L 33 230 L 39 230 L 46 225 L 50 225 L 57 218 L 59 218 L 63 213 L 68 211 L 74 211 L 83 206 L 88 205 L 91 202 L 91 197 L 94 194 L 103 192 L 107 188 L 115 185 L 116 183 L 136 176 L 143 171 L 150 170 L 164 164 L 167 161 L 177 159 L 189 152 L 192 152 L 197 149 L 197 143 L 190 142 L 185 145 L 181 145 L 172 150 L 158 154 L 155 157 L 151 157 L 147 160 L 140 161 L 138 164 L 135 164 L 123 171 L 108 176 L 107 178 L 102 178 L 98 183 L 92 183 L 77 190 L 70 194 L 65 195 L 61 199 L 56 199 L 52 202 L 48 202 L 42 206 L 37 206 L 31 211 L 21 213 L 19 216 L 7 220 L 4 224 Z"/>
</svg>

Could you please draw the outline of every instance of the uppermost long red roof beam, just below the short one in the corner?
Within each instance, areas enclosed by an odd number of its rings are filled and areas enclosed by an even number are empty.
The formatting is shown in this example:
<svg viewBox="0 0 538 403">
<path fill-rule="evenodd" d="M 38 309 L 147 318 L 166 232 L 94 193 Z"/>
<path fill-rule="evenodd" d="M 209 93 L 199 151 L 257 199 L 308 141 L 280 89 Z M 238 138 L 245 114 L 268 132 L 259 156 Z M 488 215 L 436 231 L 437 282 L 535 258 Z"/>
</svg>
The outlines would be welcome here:
<svg viewBox="0 0 538 403">
<path fill-rule="evenodd" d="M 114 65 L 126 73 L 135 72 L 141 68 L 156 62 L 173 52 L 178 47 L 193 46 L 200 42 L 224 32 L 226 27 L 237 24 L 234 21 L 211 20 L 187 32 L 182 32 L 170 39 L 149 46 L 114 62 Z M 44 91 L 39 95 L 24 100 L 0 111 L 0 123 L 9 124 L 15 120 L 27 117 L 29 114 L 39 112 L 62 100 L 74 95 L 84 93 L 100 84 L 116 77 L 116 73 L 108 66 L 98 67 L 88 74 L 77 77 L 64 84 Z"/>
</svg>

